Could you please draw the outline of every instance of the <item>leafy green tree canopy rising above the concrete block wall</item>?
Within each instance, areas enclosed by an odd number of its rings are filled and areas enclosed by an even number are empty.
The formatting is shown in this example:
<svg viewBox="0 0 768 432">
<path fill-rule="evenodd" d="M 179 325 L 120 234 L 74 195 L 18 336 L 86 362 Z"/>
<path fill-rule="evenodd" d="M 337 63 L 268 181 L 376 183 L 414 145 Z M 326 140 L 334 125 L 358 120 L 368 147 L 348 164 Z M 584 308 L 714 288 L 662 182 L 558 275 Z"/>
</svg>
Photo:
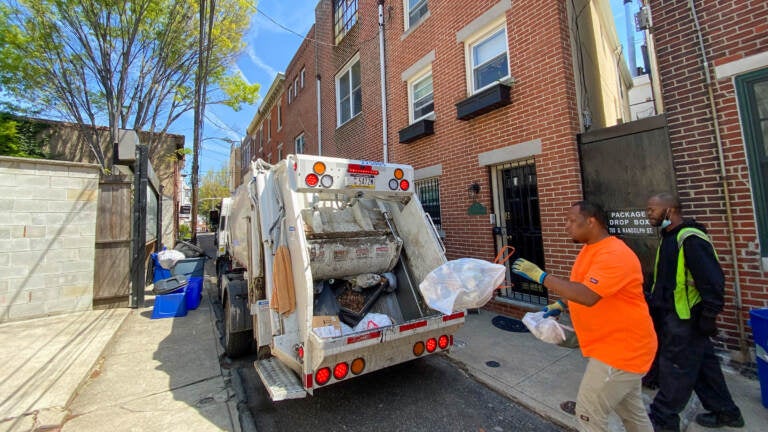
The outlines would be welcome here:
<svg viewBox="0 0 768 432">
<path fill-rule="evenodd" d="M 206 0 L 206 2 L 211 0 Z M 81 125 L 97 162 L 109 169 L 95 126 L 164 133 L 201 100 L 239 109 L 258 84 L 231 65 L 244 47 L 250 0 L 218 0 L 198 70 L 196 0 L 6 0 L 0 4 L 0 95 L 28 111 Z M 211 7 L 211 12 L 214 9 Z M 153 143 L 147 143 L 152 149 Z"/>
</svg>

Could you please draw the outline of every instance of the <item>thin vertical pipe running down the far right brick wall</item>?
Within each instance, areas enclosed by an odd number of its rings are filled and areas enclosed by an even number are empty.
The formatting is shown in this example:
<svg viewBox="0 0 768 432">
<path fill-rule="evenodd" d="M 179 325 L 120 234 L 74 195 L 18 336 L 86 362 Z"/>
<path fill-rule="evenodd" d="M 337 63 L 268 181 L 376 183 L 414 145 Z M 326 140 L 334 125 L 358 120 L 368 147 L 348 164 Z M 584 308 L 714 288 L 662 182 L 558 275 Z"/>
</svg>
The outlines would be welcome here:
<svg viewBox="0 0 768 432">
<path fill-rule="evenodd" d="M 736 253 L 736 237 L 733 234 L 733 212 L 731 210 L 731 199 L 728 193 L 728 181 L 726 179 L 725 171 L 725 157 L 723 156 L 723 140 L 720 136 L 720 124 L 717 120 L 717 107 L 715 105 L 715 96 L 712 90 L 714 83 L 709 77 L 709 63 L 707 61 L 707 53 L 704 51 L 704 39 L 701 35 L 701 26 L 699 25 L 699 18 L 696 14 L 696 6 L 693 4 L 693 0 L 688 0 L 688 5 L 691 7 L 691 15 L 693 15 L 693 23 L 696 27 L 696 36 L 699 40 L 699 50 L 701 50 L 701 62 L 704 68 L 704 79 L 707 86 L 707 96 L 709 97 L 709 105 L 712 110 L 712 124 L 715 129 L 715 141 L 717 143 L 717 156 L 720 163 L 720 177 L 723 184 L 723 194 L 725 195 L 725 215 L 728 221 L 728 235 L 731 243 L 731 259 L 733 260 L 733 294 L 736 297 L 736 323 L 739 330 L 739 350 L 741 351 L 742 361 L 746 361 L 748 358 L 749 349 L 747 347 L 747 338 L 744 333 L 744 318 L 742 314 L 742 300 L 741 300 L 741 285 L 739 282 L 739 263 L 737 261 Z"/>
</svg>

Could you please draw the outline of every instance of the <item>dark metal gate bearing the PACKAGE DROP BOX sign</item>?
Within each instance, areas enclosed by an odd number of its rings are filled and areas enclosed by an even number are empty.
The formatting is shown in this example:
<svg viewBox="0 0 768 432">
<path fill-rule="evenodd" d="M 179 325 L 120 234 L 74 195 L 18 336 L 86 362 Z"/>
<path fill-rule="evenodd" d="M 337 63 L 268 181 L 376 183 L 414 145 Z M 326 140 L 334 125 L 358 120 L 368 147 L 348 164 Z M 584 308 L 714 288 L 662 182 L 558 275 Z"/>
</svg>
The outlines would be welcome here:
<svg viewBox="0 0 768 432">
<path fill-rule="evenodd" d="M 622 238 L 652 279 L 658 232 L 645 218 L 646 201 L 676 193 L 675 173 L 663 115 L 578 136 L 584 198 L 608 213 L 608 231 Z"/>
</svg>

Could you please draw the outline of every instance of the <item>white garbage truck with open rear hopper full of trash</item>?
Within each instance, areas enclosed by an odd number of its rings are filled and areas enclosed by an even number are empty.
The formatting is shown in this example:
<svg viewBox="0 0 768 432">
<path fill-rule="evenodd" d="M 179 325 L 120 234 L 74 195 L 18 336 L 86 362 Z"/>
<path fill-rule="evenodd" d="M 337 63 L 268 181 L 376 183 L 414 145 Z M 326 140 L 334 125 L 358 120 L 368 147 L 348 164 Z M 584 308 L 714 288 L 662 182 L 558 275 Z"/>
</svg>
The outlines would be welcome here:
<svg viewBox="0 0 768 432">
<path fill-rule="evenodd" d="M 223 343 L 273 401 L 452 347 L 465 311 L 419 291 L 446 257 L 412 167 L 296 154 L 249 178 L 222 206 Z"/>
</svg>

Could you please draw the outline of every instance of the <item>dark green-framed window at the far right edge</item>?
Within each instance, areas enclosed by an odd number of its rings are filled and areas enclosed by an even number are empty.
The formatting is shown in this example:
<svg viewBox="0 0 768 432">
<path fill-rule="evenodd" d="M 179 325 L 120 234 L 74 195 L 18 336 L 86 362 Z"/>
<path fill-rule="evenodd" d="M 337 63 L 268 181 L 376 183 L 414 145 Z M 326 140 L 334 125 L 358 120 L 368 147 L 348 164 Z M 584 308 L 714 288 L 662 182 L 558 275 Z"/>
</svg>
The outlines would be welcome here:
<svg viewBox="0 0 768 432">
<path fill-rule="evenodd" d="M 760 255 L 765 263 L 768 257 L 768 69 L 739 76 L 735 84 L 752 181 Z"/>
</svg>

